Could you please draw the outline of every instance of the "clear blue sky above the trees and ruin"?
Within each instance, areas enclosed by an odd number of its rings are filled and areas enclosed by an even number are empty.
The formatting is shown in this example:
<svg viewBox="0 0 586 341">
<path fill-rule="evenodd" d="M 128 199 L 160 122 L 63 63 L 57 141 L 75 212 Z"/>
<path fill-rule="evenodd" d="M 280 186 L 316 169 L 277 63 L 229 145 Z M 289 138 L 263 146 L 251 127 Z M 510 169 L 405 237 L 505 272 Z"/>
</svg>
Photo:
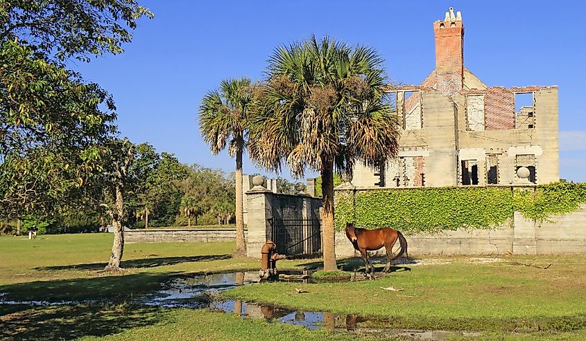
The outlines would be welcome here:
<svg viewBox="0 0 586 341">
<path fill-rule="evenodd" d="M 114 95 L 119 129 L 184 163 L 234 169 L 210 154 L 197 108 L 221 80 L 259 80 L 279 45 L 330 35 L 376 48 L 388 76 L 419 84 L 435 65 L 433 21 L 453 6 L 464 62 L 488 86 L 558 85 L 560 176 L 586 181 L 586 25 L 583 1 L 156 1 L 123 55 L 71 65 Z M 245 172 L 257 172 L 245 160 Z M 289 174 L 282 174 L 290 178 Z"/>
</svg>

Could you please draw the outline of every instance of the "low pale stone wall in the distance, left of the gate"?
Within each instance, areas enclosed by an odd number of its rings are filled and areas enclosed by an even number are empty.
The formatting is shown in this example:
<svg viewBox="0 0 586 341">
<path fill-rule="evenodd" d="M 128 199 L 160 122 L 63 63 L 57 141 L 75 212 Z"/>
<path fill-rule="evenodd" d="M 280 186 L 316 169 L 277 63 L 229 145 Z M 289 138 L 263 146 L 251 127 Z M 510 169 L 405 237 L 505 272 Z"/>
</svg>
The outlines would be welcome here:
<svg viewBox="0 0 586 341">
<path fill-rule="evenodd" d="M 246 231 L 245 235 L 248 234 Z M 245 236 L 246 237 L 246 236 Z M 236 241 L 234 228 L 157 228 L 124 232 L 126 243 L 166 243 L 175 241 Z"/>
</svg>

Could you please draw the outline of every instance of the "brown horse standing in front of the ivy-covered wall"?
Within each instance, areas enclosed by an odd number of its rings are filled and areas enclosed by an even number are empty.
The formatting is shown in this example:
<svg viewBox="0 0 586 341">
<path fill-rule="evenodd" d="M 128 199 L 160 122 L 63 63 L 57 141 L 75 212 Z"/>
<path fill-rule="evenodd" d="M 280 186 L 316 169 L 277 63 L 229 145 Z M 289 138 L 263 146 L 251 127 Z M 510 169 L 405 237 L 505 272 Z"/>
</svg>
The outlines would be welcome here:
<svg viewBox="0 0 586 341">
<path fill-rule="evenodd" d="M 359 250 L 364 259 L 365 273 L 370 273 L 374 270 L 374 266 L 368 259 L 368 251 L 379 250 L 383 246 L 386 249 L 386 266 L 384 272 L 388 273 L 390 270 L 390 262 L 401 257 L 403 254 L 407 256 L 407 241 L 403 234 L 393 228 L 377 228 L 376 230 L 366 230 L 364 228 L 354 228 L 354 223 L 346 223 L 346 237 L 350 239 L 354 249 Z M 401 249 L 399 253 L 391 259 L 393 255 L 393 246 L 399 239 L 399 246 Z"/>
</svg>

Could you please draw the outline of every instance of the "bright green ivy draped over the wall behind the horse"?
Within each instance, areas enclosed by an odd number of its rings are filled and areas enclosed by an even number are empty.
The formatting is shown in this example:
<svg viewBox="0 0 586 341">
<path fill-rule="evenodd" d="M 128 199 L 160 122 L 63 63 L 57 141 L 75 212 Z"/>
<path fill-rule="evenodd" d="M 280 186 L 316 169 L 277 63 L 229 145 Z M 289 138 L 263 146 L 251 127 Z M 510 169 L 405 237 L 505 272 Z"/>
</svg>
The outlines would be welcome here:
<svg viewBox="0 0 586 341">
<path fill-rule="evenodd" d="M 512 222 L 513 212 L 535 221 L 574 212 L 586 203 L 586 183 L 537 187 L 419 187 L 336 190 L 336 230 L 388 226 L 406 233 L 458 228 L 491 229 Z"/>
</svg>

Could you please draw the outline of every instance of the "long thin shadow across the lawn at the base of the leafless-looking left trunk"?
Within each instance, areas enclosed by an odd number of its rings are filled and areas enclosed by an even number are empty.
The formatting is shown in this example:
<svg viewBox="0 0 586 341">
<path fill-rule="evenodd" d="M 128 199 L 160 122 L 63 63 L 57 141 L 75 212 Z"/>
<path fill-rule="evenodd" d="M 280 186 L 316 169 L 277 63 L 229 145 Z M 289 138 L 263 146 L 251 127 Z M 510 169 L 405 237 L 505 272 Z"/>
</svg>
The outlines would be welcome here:
<svg viewBox="0 0 586 341">
<path fill-rule="evenodd" d="M 187 263 L 191 261 L 220 261 L 223 259 L 231 259 L 232 255 L 203 255 L 203 256 L 185 256 L 185 257 L 160 257 L 160 258 L 144 258 L 144 259 L 130 259 L 122 261 L 120 266 L 122 268 L 155 268 L 157 266 L 168 266 L 180 263 Z M 35 270 L 102 270 L 107 263 L 87 263 L 87 264 L 71 264 L 62 266 L 42 266 L 35 268 Z"/>
</svg>

